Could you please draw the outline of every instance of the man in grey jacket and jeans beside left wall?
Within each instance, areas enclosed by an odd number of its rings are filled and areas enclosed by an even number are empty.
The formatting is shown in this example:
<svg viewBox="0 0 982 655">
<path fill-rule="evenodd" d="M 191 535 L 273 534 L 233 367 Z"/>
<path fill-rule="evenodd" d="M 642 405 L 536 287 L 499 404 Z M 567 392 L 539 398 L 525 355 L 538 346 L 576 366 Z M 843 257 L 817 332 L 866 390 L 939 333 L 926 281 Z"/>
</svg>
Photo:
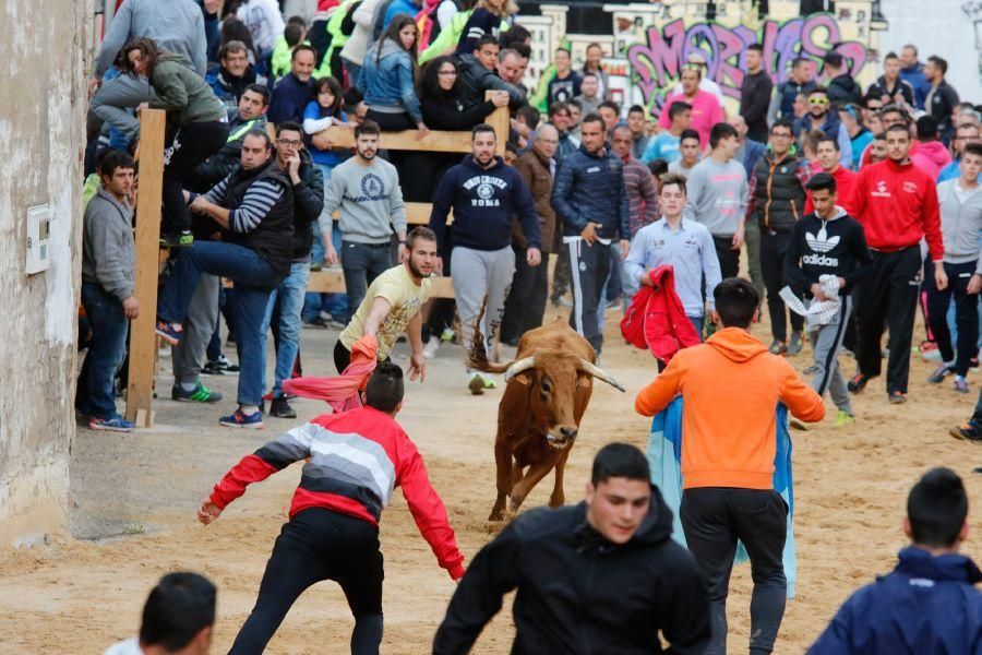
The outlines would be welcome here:
<svg viewBox="0 0 982 655">
<path fill-rule="evenodd" d="M 116 373 L 127 355 L 129 320 L 140 313 L 133 297 L 133 158 L 109 151 L 99 162 L 99 189 L 85 209 L 82 236 L 82 307 L 92 341 L 75 390 L 75 412 L 93 430 L 129 432 L 116 412 Z"/>
</svg>

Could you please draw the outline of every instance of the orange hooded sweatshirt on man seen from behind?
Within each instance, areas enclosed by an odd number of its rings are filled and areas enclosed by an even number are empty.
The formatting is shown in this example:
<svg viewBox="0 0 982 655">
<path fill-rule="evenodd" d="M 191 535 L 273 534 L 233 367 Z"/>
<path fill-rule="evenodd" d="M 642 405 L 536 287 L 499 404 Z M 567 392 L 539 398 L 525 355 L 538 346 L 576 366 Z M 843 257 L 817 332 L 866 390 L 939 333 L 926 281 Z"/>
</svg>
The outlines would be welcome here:
<svg viewBox="0 0 982 655">
<path fill-rule="evenodd" d="M 791 365 L 738 327 L 680 350 L 634 407 L 655 416 L 680 393 L 683 489 L 773 489 L 777 404 L 803 421 L 825 418 L 822 397 Z"/>
</svg>

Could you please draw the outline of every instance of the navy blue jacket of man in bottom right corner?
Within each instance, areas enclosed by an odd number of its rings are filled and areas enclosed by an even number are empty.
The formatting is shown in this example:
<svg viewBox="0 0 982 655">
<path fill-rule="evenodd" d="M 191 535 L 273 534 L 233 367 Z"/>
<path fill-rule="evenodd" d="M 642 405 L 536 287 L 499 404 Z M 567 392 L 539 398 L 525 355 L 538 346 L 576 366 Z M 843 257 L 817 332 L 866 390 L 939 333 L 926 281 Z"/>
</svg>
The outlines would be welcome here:
<svg viewBox="0 0 982 655">
<path fill-rule="evenodd" d="M 963 555 L 900 551 L 889 575 L 839 608 L 811 655 L 982 653 L 982 572 Z"/>
</svg>

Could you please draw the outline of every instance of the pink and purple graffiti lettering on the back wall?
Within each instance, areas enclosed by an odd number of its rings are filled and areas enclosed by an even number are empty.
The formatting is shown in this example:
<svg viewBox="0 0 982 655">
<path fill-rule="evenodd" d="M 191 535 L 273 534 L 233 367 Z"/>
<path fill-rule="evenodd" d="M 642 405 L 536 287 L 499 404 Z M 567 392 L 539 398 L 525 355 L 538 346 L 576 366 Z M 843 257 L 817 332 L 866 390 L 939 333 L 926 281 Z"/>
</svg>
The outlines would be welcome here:
<svg viewBox="0 0 982 655">
<path fill-rule="evenodd" d="M 661 107 L 680 79 L 682 64 L 696 51 L 706 58 L 707 76 L 724 95 L 739 98 L 746 70 L 744 52 L 752 44 L 764 47 L 764 66 L 775 84 L 783 81 L 791 61 L 800 55 L 821 62 L 826 52 L 836 50 L 846 58 L 853 75 L 862 71 L 869 58 L 864 44 L 841 39 L 831 14 L 816 13 L 783 22 L 764 20 L 756 31 L 742 24 L 727 27 L 702 22 L 686 26 L 679 19 L 660 28 L 649 27 L 647 43 L 627 48 L 627 61 L 649 107 Z"/>
</svg>

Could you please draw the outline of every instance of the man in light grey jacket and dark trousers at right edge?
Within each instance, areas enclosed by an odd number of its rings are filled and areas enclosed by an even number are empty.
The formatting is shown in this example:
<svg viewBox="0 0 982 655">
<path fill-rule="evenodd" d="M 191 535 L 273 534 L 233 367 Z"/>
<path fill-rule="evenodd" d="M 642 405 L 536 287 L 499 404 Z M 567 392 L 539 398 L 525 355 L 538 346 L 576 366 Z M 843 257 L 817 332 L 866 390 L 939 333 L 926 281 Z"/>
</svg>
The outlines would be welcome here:
<svg viewBox="0 0 982 655">
<path fill-rule="evenodd" d="M 961 177 L 937 186 L 941 204 L 942 238 L 945 242 L 944 266 L 948 286 L 938 289 L 933 275 L 924 276 L 927 290 L 927 322 L 942 365 L 927 379 L 939 384 L 945 377 L 955 376 L 955 391 L 968 393 L 965 377 L 970 360 L 979 352 L 979 291 L 982 290 L 982 144 L 969 143 L 961 157 Z M 947 313 L 955 299 L 955 324 L 958 327 L 957 348 L 951 347 L 951 332 Z"/>
</svg>

